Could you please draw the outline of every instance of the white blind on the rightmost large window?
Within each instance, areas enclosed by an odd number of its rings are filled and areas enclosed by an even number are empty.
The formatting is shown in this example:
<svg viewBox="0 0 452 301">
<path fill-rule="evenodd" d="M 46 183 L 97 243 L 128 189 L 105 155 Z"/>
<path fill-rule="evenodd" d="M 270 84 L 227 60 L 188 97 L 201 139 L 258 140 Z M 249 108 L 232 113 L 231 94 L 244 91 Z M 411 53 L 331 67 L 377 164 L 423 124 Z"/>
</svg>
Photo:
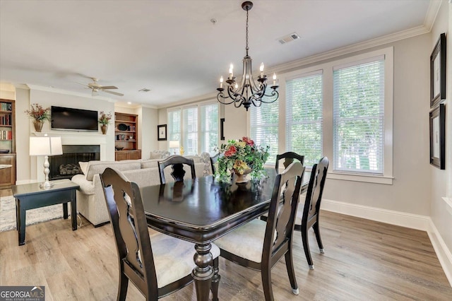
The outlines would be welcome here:
<svg viewBox="0 0 452 301">
<path fill-rule="evenodd" d="M 334 170 L 383 175 L 384 57 L 333 71 Z"/>
</svg>

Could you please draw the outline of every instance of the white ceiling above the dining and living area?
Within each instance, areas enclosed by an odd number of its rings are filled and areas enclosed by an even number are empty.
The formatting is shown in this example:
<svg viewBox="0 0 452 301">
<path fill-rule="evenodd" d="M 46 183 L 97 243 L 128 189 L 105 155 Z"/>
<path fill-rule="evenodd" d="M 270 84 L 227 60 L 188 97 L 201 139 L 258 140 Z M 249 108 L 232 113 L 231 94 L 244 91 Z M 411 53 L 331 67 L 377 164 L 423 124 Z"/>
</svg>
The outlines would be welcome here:
<svg viewBox="0 0 452 301">
<path fill-rule="evenodd" d="M 290 61 L 415 28 L 427 32 L 438 7 L 430 2 L 255 0 L 249 11 L 254 70 L 263 61 L 270 76 Z M 241 4 L 0 0 L 0 82 L 89 96 L 80 83 L 95 77 L 124 93 L 102 96 L 156 107 L 215 93 L 230 63 L 242 73 Z M 301 38 L 281 45 L 278 39 L 290 33 Z"/>
</svg>

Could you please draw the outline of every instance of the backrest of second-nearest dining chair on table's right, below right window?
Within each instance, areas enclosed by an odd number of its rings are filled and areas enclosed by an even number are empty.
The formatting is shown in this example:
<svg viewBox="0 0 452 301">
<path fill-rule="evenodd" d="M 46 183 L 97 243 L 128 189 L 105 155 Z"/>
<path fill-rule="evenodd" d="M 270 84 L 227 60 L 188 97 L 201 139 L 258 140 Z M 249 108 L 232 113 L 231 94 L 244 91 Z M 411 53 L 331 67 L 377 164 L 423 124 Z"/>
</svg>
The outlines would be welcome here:
<svg viewBox="0 0 452 301">
<path fill-rule="evenodd" d="M 323 157 L 319 164 L 314 164 L 309 179 L 306 200 L 304 201 L 303 218 L 310 220 L 320 211 L 320 204 L 328 172 L 328 158 Z"/>
</svg>

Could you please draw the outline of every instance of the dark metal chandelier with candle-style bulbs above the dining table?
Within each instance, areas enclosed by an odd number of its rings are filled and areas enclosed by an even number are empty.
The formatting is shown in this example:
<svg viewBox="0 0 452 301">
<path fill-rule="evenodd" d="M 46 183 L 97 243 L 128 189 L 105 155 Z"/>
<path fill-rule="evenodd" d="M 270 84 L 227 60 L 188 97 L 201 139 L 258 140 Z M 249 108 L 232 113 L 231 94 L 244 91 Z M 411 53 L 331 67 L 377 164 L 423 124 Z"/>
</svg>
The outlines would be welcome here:
<svg viewBox="0 0 452 301">
<path fill-rule="evenodd" d="M 244 106 L 246 111 L 253 104 L 255 107 L 261 107 L 262 102 L 271 103 L 278 100 L 279 93 L 276 90 L 278 85 L 276 84 L 276 74 L 273 73 L 273 85 L 269 94 L 266 94 L 267 88 L 267 76 L 263 74 L 263 63 L 261 64 L 261 74 L 257 78 L 257 83 L 254 82 L 253 74 L 251 73 L 251 57 L 248 55 L 248 11 L 253 7 L 253 2 L 244 1 L 242 8 L 246 11 L 246 55 L 243 58 L 243 75 L 242 81 L 238 83 L 235 81 L 234 66 L 230 65 L 229 77 L 226 80 L 227 83 L 227 95 L 225 95 L 223 88 L 223 77 L 220 77 L 220 88 L 217 88 L 218 102 L 224 105 L 234 104 L 235 107 Z M 267 98 L 263 97 L 266 96 Z"/>
</svg>

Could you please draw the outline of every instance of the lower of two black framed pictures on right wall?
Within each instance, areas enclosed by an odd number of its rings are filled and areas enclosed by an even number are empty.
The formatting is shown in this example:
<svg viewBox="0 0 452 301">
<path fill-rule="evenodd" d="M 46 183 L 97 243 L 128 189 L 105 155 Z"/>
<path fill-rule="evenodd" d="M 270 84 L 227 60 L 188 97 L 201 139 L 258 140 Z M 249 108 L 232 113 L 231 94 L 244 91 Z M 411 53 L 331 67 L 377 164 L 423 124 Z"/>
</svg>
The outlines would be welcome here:
<svg viewBox="0 0 452 301">
<path fill-rule="evenodd" d="M 430 111 L 430 164 L 446 169 L 446 106 L 440 103 Z"/>
</svg>

